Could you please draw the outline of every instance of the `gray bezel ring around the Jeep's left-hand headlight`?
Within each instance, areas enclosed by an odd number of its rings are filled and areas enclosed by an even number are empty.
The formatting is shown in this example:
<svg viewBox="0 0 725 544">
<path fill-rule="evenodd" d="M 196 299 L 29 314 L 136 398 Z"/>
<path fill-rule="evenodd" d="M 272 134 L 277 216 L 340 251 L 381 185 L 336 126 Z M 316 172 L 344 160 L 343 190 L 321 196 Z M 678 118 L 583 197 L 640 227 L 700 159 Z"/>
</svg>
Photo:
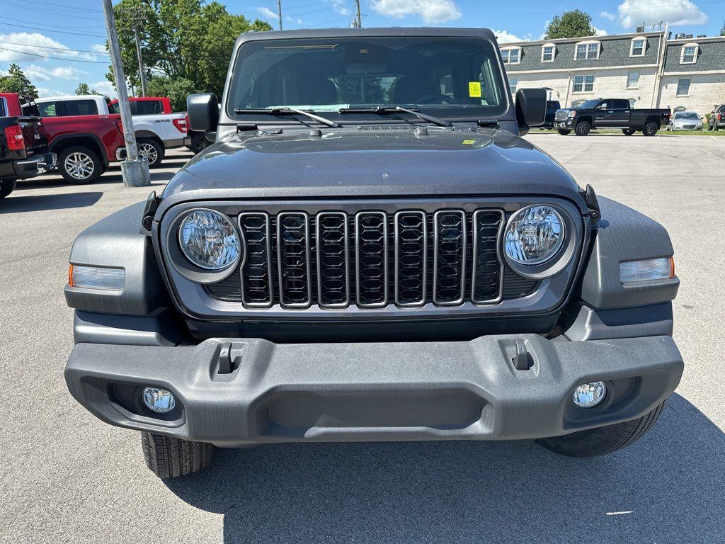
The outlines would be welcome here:
<svg viewBox="0 0 725 544">
<path fill-rule="evenodd" d="M 195 212 L 209 212 L 219 215 L 223 218 L 223 221 L 228 222 L 229 226 L 231 226 L 234 234 L 236 235 L 237 240 L 239 240 L 239 252 L 236 259 L 228 265 L 225 265 L 223 268 L 210 268 L 202 265 L 201 263 L 195 263 L 183 250 L 181 226 L 189 215 Z M 244 260 L 246 259 L 247 244 L 244 240 L 244 234 L 242 234 L 239 229 L 239 225 L 233 218 L 220 212 L 219 210 L 213 210 L 212 208 L 194 207 L 179 214 L 174 218 L 170 228 L 168 229 L 166 242 L 170 263 L 176 271 L 181 274 L 181 276 L 190 281 L 194 281 L 197 284 L 213 284 L 217 281 L 222 281 L 223 279 L 228 278 L 228 276 L 231 276 L 234 271 L 239 269 L 240 265 L 244 265 Z"/>
</svg>

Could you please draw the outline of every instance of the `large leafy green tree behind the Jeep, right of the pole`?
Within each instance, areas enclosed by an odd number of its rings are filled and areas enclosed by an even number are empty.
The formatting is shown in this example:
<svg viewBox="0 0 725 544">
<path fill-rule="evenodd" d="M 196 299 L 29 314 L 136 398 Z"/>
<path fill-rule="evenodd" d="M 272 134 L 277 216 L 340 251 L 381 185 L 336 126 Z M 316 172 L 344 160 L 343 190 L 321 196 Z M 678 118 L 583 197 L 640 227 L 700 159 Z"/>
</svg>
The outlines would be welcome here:
<svg viewBox="0 0 725 544">
<path fill-rule="evenodd" d="M 138 88 L 138 30 L 149 94 L 152 88 L 153 94 L 188 88 L 220 95 L 236 37 L 271 29 L 266 22 L 227 12 L 217 1 L 122 0 L 114 11 L 125 76 Z M 110 70 L 107 78 L 113 81 Z"/>
</svg>

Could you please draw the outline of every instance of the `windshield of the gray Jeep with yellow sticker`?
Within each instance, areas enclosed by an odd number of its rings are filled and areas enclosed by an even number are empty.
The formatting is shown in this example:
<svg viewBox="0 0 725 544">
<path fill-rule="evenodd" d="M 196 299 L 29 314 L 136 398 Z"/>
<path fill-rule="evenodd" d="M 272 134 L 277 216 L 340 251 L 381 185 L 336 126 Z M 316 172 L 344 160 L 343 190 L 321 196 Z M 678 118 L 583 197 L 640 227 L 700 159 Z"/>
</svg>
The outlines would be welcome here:
<svg viewBox="0 0 725 544">
<path fill-rule="evenodd" d="M 494 117 L 508 107 L 493 44 L 457 38 L 315 38 L 251 41 L 239 49 L 231 118 L 273 120 L 295 107 L 341 119 L 343 108 L 418 107 L 442 118 Z M 376 118 L 371 113 L 344 115 Z"/>
</svg>

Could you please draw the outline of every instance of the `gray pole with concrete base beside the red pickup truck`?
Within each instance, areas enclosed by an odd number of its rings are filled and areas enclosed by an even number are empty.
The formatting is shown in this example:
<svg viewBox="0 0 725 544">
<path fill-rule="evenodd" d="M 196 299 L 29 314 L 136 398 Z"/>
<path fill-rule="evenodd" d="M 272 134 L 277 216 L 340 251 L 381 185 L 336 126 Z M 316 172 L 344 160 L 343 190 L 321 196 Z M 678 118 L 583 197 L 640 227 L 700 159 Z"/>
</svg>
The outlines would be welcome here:
<svg viewBox="0 0 725 544">
<path fill-rule="evenodd" d="M 123 75 L 123 63 L 118 46 L 118 34 L 116 31 L 116 20 L 113 15 L 111 0 L 103 1 L 103 12 L 106 20 L 106 33 L 108 44 L 111 49 L 111 65 L 113 77 L 116 83 L 118 95 L 118 107 L 123 124 L 123 139 L 126 144 L 126 160 L 121 161 L 121 175 L 123 184 L 127 187 L 142 187 L 151 185 L 149 175 L 149 161 L 146 158 L 138 158 L 138 147 L 136 146 L 136 135 L 133 133 L 133 118 L 128 104 L 128 91 L 126 91 L 126 79 Z"/>
</svg>

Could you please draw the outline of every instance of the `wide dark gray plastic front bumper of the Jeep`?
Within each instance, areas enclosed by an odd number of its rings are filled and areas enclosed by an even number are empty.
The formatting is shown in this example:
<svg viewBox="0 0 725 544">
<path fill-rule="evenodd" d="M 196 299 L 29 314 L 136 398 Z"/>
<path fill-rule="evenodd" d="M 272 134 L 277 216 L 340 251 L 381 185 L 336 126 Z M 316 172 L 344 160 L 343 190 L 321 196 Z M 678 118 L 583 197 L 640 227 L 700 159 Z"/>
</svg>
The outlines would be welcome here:
<svg viewBox="0 0 725 544">
<path fill-rule="evenodd" d="M 220 374 L 229 344 L 241 358 Z M 528 370 L 513 363 L 522 348 Z M 571 342 L 521 334 L 471 342 L 81 343 L 65 379 L 73 397 L 109 424 L 233 447 L 551 437 L 644 415 L 675 390 L 682 371 L 668 336 Z M 574 388 L 595 380 L 607 382 L 607 399 L 576 408 Z M 159 418 L 142 408 L 141 388 L 149 385 L 173 392 L 173 413 Z"/>
</svg>

